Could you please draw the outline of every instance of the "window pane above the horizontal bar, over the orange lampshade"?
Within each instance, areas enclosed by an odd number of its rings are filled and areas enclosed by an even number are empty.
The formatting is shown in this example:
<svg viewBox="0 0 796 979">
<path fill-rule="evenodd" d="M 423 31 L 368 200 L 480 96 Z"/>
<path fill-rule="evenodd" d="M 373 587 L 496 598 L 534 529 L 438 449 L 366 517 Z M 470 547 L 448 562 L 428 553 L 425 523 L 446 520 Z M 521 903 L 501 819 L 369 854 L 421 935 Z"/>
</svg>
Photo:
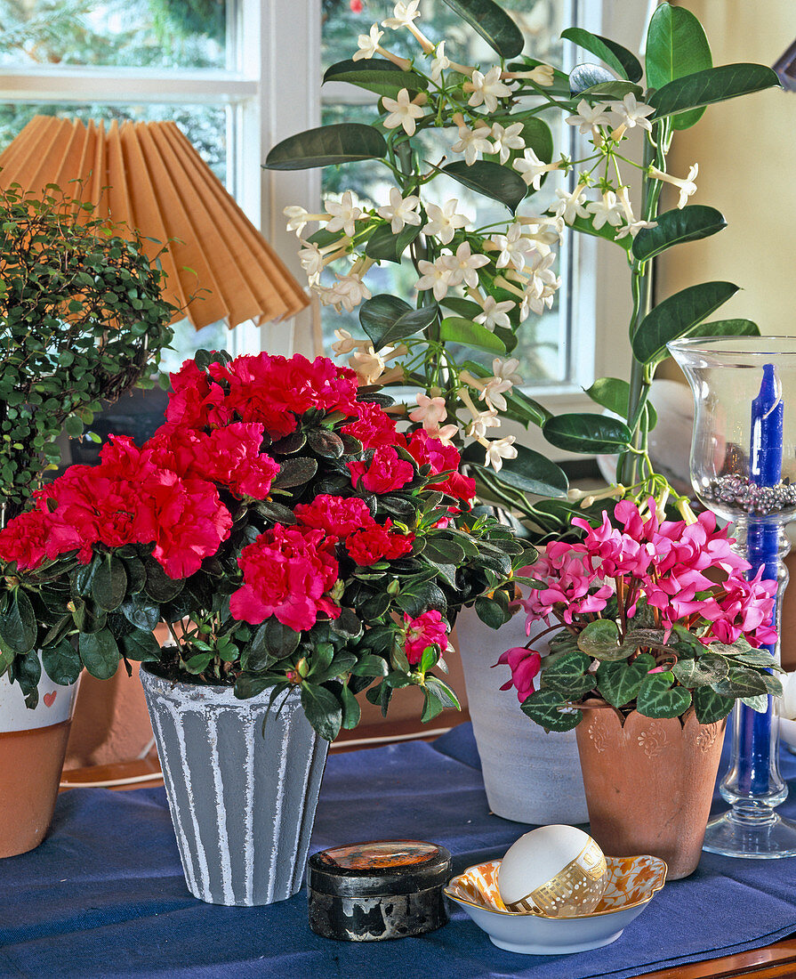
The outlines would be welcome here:
<svg viewBox="0 0 796 979">
<path fill-rule="evenodd" d="M 0 0 L 0 66 L 226 68 L 226 0 Z"/>
</svg>

